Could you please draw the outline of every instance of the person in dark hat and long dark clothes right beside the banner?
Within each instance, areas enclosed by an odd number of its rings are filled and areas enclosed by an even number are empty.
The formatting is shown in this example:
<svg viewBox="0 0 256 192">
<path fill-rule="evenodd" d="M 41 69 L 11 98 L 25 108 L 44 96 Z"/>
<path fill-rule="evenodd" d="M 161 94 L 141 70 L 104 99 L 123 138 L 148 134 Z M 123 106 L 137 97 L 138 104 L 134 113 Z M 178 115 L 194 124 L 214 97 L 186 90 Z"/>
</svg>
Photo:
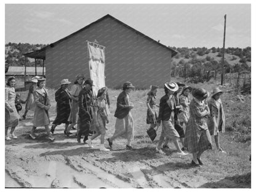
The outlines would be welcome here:
<svg viewBox="0 0 256 192">
<path fill-rule="evenodd" d="M 78 143 L 81 143 L 81 136 L 84 135 L 84 143 L 87 143 L 92 148 L 92 143 L 88 141 L 90 132 L 90 124 L 92 117 L 94 116 L 94 97 L 91 89 L 94 86 L 94 81 L 87 79 L 84 82 L 84 88 L 81 90 L 78 96 L 79 106 L 79 132 L 78 132 Z"/>
</svg>

